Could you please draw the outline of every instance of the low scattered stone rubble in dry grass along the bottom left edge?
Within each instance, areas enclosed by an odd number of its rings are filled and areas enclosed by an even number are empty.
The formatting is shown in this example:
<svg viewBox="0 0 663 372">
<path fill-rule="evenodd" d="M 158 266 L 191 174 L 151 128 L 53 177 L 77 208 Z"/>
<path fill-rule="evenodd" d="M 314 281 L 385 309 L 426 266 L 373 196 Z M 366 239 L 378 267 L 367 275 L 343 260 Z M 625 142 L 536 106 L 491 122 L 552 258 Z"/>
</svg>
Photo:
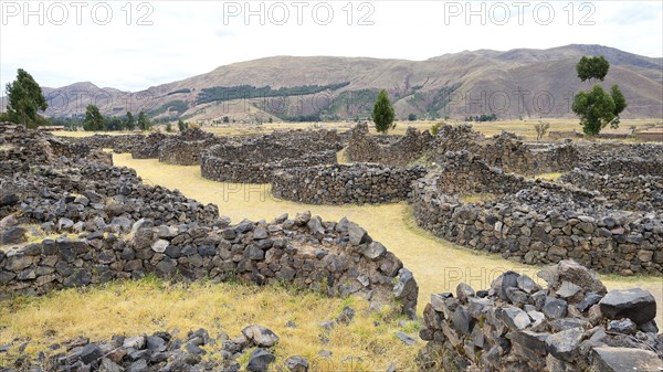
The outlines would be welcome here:
<svg viewBox="0 0 663 372">
<path fill-rule="evenodd" d="M 239 372 L 241 359 L 246 359 L 245 371 L 249 372 L 267 372 L 275 366 L 284 372 L 307 372 L 311 365 L 306 358 L 295 355 L 276 360 L 274 348 L 278 341 L 276 333 L 257 325 L 245 327 L 234 338 L 225 332 L 213 336 L 202 328 L 188 332 L 183 338 L 178 337 L 177 331 L 134 337 L 117 334 L 110 341 L 99 342 L 81 337 L 51 346 L 53 350 L 66 351 L 43 355 L 32 363 L 17 362 L 15 368 L 31 372 Z"/>
</svg>

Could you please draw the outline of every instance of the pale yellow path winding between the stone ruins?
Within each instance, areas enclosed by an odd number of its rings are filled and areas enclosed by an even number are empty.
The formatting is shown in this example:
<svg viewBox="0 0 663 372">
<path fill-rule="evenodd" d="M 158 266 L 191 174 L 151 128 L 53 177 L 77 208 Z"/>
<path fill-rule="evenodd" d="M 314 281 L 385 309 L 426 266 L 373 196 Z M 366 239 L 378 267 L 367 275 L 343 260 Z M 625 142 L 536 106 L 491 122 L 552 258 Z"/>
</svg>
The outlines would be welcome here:
<svg viewBox="0 0 663 372">
<path fill-rule="evenodd" d="M 271 221 L 287 212 L 311 211 L 324 221 L 338 221 L 347 216 L 368 231 L 373 240 L 401 258 L 414 273 L 420 286 L 419 311 L 430 300 L 430 295 L 455 291 L 460 281 L 475 289 L 488 288 L 493 279 L 507 269 L 536 278 L 540 267 L 502 259 L 498 255 L 473 252 L 417 227 L 406 203 L 387 205 L 307 205 L 274 199 L 266 184 L 233 184 L 206 180 L 200 167 L 169 166 L 156 159 L 137 160 L 130 155 L 114 155 L 116 166 L 136 169 L 146 183 L 178 189 L 185 195 L 203 203 L 219 205 L 222 215 L 234 223 L 244 217 Z M 602 278 L 609 289 L 641 287 L 650 290 L 657 300 L 657 322 L 663 325 L 663 278 L 608 276 Z"/>
</svg>

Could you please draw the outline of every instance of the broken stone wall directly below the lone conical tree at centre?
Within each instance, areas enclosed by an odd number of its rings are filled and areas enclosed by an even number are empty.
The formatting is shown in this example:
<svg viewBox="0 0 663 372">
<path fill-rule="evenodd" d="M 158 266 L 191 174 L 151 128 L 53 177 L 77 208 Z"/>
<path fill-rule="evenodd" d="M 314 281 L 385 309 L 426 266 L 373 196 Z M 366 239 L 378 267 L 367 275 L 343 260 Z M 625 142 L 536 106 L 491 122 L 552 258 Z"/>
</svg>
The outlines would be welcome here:
<svg viewBox="0 0 663 372">
<path fill-rule="evenodd" d="M 429 131 L 419 132 L 409 127 L 404 136 L 371 136 L 368 124 L 360 123 L 352 130 L 347 155 L 356 162 L 378 162 L 407 166 L 421 158 L 432 142 Z"/>
</svg>

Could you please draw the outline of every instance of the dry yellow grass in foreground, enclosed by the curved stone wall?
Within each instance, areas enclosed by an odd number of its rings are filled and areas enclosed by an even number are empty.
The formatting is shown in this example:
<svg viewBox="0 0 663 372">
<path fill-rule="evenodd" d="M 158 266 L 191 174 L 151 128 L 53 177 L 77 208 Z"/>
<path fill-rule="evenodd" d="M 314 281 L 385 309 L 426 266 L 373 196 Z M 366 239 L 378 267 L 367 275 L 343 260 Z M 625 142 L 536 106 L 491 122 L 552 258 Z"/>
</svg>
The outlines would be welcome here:
<svg viewBox="0 0 663 372">
<path fill-rule="evenodd" d="M 325 331 L 319 322 L 335 319 L 345 306 L 357 311 L 355 320 L 336 326 L 328 333 L 329 342 L 322 344 L 319 336 Z M 390 363 L 408 371 L 422 343 L 408 347 L 396 339 L 398 331 L 415 337 L 419 329 L 411 321 L 401 327 L 401 320 L 387 312 L 369 312 L 367 302 L 356 298 L 327 298 L 283 286 L 172 285 L 148 277 L 0 302 L 0 344 L 29 339 L 25 352 L 33 354 L 80 336 L 110 340 L 113 334 L 178 330 L 183 338 L 190 330 L 204 328 L 212 338 L 220 332 L 232 338 L 246 326 L 261 325 L 281 338 L 275 348 L 281 361 L 302 355 L 313 362 L 314 371 L 335 372 L 355 357 L 362 362 L 352 371 L 385 371 Z M 296 326 L 286 327 L 288 321 Z M 332 351 L 332 358 L 320 360 L 322 350 Z"/>
</svg>

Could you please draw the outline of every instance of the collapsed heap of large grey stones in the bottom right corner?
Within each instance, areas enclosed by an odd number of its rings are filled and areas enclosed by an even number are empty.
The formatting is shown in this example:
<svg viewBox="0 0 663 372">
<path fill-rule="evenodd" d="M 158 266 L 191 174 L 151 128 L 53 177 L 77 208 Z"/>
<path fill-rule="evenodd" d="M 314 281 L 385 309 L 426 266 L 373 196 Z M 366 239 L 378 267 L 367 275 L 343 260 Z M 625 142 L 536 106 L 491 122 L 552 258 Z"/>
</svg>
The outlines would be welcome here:
<svg viewBox="0 0 663 372">
<path fill-rule="evenodd" d="M 654 297 L 607 293 L 596 273 L 565 261 L 532 278 L 507 272 L 490 290 L 460 284 L 423 311 L 422 371 L 661 371 Z"/>
</svg>

